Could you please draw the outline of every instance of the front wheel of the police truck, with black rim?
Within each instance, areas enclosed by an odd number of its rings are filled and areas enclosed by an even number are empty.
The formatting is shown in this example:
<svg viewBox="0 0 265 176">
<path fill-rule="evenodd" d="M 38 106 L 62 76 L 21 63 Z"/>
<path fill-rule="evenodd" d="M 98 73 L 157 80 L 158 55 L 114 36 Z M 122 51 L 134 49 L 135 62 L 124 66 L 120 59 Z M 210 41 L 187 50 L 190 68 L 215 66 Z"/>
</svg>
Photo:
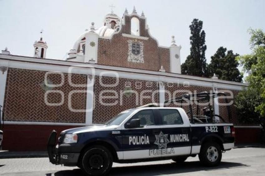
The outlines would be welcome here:
<svg viewBox="0 0 265 176">
<path fill-rule="evenodd" d="M 106 175 L 112 167 L 113 158 L 104 146 L 92 146 L 84 152 L 82 169 L 87 175 Z"/>
</svg>

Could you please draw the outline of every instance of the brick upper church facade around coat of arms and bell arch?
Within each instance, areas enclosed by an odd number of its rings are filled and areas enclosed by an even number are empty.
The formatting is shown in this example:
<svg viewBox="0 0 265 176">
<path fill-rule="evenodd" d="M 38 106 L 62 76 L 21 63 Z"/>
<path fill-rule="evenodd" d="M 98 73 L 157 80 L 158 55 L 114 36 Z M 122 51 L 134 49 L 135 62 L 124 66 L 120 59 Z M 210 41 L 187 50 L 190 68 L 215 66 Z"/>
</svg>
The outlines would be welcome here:
<svg viewBox="0 0 265 176">
<path fill-rule="evenodd" d="M 162 65 L 166 72 L 169 72 L 169 49 L 158 47 L 157 41 L 148 35 L 145 29 L 145 19 L 142 18 L 138 18 L 140 36 L 149 37 L 147 40 L 137 39 L 143 42 L 144 63 L 128 62 L 128 40 L 132 38 L 123 37 L 122 33 L 131 34 L 131 17 L 125 16 L 125 25 L 120 33 L 112 36 L 112 39 L 99 39 L 98 64 L 152 71 L 159 71 Z"/>
</svg>

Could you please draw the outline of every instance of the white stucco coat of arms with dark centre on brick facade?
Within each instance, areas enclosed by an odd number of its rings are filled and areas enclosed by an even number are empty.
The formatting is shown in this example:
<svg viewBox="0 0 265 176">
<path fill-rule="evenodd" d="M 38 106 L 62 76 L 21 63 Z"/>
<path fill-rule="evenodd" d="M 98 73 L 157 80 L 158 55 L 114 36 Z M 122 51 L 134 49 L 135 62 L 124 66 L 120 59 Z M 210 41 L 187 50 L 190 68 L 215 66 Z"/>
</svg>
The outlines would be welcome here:
<svg viewBox="0 0 265 176">
<path fill-rule="evenodd" d="M 128 62 L 144 63 L 143 43 L 139 40 L 128 40 Z"/>
</svg>

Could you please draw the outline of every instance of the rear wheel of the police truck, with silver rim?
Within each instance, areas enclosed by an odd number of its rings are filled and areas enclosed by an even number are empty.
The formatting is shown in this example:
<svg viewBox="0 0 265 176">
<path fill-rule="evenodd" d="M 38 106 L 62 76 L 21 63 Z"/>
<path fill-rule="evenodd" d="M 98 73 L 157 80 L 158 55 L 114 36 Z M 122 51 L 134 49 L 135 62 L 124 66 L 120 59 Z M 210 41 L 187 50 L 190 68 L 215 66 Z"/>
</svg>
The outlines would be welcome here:
<svg viewBox="0 0 265 176">
<path fill-rule="evenodd" d="M 205 166 L 217 166 L 222 159 L 222 151 L 216 142 L 205 143 L 199 154 L 200 162 Z"/>
</svg>

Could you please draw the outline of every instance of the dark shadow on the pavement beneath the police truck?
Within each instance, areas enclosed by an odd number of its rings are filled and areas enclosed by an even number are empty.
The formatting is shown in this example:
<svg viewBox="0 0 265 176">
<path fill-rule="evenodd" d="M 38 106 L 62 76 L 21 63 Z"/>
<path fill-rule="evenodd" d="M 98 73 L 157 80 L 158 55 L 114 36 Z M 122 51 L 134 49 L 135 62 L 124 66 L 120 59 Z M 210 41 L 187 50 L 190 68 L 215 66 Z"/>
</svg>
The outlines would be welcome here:
<svg viewBox="0 0 265 176">
<path fill-rule="evenodd" d="M 111 169 L 109 175 L 167 175 L 167 174 L 181 174 L 186 172 L 196 172 L 196 171 L 210 171 L 210 170 L 220 170 L 220 169 L 230 169 L 248 167 L 248 165 L 234 162 L 221 162 L 217 167 L 203 167 L 200 165 L 199 161 L 185 162 L 184 164 L 177 164 L 175 162 L 169 164 L 151 164 L 142 166 L 124 166 L 124 167 L 114 167 Z M 76 176 L 84 175 L 81 169 L 73 170 L 62 170 L 54 173 L 55 176 Z"/>
</svg>

